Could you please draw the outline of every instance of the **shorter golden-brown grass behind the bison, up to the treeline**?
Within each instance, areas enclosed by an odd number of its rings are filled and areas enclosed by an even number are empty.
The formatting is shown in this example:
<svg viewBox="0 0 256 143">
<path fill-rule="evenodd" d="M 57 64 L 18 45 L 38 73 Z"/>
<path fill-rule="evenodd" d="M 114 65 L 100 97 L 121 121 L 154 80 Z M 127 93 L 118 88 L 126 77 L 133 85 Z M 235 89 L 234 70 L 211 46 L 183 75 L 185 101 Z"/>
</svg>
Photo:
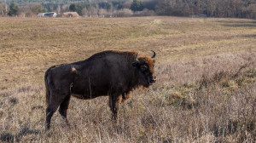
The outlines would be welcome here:
<svg viewBox="0 0 256 143">
<path fill-rule="evenodd" d="M 105 49 L 139 50 L 158 61 L 255 52 L 255 20 L 145 17 L 0 20 L 0 89 L 42 82 L 54 64 L 84 60 Z M 13 74 L 15 73 L 15 74 Z M 10 75 L 12 74 L 12 75 Z"/>
</svg>

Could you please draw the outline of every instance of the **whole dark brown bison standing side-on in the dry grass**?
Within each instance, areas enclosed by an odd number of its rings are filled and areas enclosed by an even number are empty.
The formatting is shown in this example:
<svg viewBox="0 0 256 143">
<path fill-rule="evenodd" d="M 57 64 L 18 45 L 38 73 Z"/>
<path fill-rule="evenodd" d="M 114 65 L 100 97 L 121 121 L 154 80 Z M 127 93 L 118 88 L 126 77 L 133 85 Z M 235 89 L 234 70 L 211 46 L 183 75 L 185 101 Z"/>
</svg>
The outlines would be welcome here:
<svg viewBox="0 0 256 143">
<path fill-rule="evenodd" d="M 67 109 L 71 95 L 83 100 L 99 96 L 109 97 L 109 107 L 116 120 L 119 103 L 138 87 L 154 84 L 154 57 L 132 51 L 108 50 L 90 56 L 87 60 L 51 66 L 45 72 L 46 128 L 59 108 L 67 122 Z M 68 122 L 67 122 L 68 124 Z"/>
</svg>

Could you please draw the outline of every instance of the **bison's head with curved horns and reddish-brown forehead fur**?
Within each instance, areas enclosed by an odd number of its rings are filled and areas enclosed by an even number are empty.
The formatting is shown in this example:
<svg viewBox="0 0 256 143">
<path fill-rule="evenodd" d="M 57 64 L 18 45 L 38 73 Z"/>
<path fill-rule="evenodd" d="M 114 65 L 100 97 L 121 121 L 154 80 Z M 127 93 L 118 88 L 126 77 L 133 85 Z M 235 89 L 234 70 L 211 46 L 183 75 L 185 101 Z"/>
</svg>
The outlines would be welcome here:
<svg viewBox="0 0 256 143">
<path fill-rule="evenodd" d="M 154 51 L 152 51 L 154 53 Z M 138 55 L 138 54 L 137 54 Z M 143 85 L 144 87 L 148 87 L 149 85 L 152 85 L 156 81 L 156 77 L 154 76 L 154 57 L 155 53 L 152 57 L 149 56 L 141 56 L 137 57 L 137 55 L 134 58 L 134 62 L 132 63 L 132 66 L 136 67 L 136 76 L 138 78 L 138 82 L 140 85 Z"/>
</svg>

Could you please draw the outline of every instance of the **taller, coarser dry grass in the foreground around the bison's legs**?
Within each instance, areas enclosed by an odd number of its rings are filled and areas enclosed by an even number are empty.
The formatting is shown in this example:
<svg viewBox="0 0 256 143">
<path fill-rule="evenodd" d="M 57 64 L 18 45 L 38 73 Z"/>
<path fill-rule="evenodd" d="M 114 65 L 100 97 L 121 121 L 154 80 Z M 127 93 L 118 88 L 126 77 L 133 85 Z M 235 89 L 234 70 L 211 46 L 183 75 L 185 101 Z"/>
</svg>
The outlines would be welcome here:
<svg viewBox="0 0 256 143">
<path fill-rule="evenodd" d="M 44 129 L 44 85 L 1 91 L 6 142 L 255 142 L 255 54 L 212 55 L 155 67 L 157 83 L 135 90 L 111 121 L 108 98 L 72 98 L 66 126 L 58 112 Z"/>
</svg>

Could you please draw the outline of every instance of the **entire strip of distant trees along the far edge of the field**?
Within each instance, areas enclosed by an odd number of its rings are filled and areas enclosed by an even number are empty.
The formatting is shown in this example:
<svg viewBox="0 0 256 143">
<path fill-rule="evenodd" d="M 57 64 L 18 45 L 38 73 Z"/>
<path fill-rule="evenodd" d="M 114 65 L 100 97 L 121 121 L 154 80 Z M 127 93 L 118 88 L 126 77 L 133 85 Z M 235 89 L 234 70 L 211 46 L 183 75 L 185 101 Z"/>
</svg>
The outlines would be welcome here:
<svg viewBox="0 0 256 143">
<path fill-rule="evenodd" d="M 0 3 L 0 15 L 75 11 L 81 16 L 174 15 L 256 19 L 255 0 L 17 0 Z M 12 2 L 12 3 L 11 3 Z M 13 2 L 19 2 L 18 4 Z M 38 3 L 28 3 L 38 2 Z"/>
</svg>

